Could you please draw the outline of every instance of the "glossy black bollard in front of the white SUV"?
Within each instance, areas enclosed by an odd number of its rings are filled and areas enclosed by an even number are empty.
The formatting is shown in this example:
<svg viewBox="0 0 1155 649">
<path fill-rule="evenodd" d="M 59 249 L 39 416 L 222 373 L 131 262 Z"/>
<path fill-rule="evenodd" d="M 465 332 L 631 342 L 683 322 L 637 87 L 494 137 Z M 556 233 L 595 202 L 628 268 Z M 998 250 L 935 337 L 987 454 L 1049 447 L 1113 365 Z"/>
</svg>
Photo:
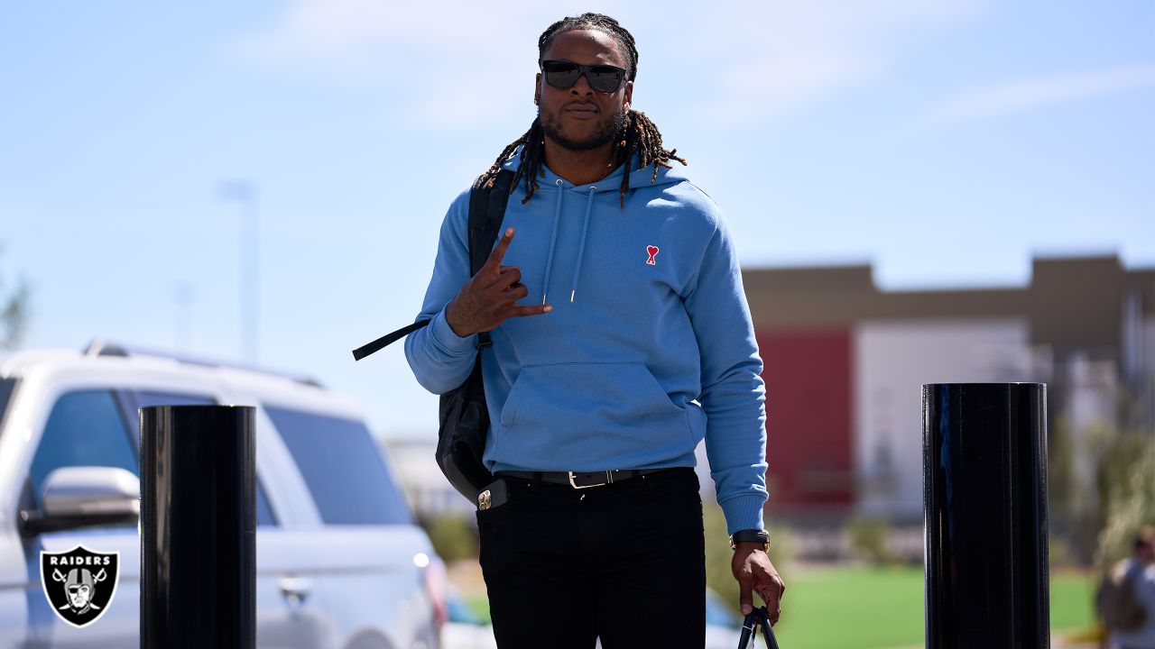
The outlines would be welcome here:
<svg viewBox="0 0 1155 649">
<path fill-rule="evenodd" d="M 140 410 L 141 648 L 256 646 L 254 409 Z"/>
</svg>

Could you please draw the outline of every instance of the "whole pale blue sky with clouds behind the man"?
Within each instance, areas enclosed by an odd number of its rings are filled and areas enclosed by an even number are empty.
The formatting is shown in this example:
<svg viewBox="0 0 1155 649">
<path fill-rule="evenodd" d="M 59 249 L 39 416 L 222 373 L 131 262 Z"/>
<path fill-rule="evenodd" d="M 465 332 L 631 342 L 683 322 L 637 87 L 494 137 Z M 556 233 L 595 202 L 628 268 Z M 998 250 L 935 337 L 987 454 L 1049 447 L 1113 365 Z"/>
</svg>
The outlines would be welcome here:
<svg viewBox="0 0 1155 649">
<path fill-rule="evenodd" d="M 385 435 L 435 397 L 400 346 L 449 201 L 534 115 L 536 39 L 636 37 L 634 106 L 748 268 L 872 262 L 879 285 L 1020 285 L 1031 255 L 1155 266 L 1155 2 L 380 0 L 0 8 L 0 277 L 25 346 L 241 357 L 240 206 L 259 196 L 263 365 Z M 708 7 L 705 8 L 705 7 Z"/>
</svg>

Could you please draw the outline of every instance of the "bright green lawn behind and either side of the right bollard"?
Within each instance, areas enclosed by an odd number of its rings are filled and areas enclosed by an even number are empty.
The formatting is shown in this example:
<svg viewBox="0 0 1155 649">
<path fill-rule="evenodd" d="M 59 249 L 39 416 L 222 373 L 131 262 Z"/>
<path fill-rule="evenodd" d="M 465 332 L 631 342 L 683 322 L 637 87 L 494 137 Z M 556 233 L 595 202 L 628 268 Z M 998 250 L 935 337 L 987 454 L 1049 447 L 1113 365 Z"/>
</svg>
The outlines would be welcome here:
<svg viewBox="0 0 1155 649">
<path fill-rule="evenodd" d="M 787 575 L 782 620 L 775 627 L 791 649 L 871 649 L 923 643 L 922 567 L 840 567 Z M 1093 584 L 1079 573 L 1051 577 L 1051 629 L 1093 622 Z"/>
</svg>

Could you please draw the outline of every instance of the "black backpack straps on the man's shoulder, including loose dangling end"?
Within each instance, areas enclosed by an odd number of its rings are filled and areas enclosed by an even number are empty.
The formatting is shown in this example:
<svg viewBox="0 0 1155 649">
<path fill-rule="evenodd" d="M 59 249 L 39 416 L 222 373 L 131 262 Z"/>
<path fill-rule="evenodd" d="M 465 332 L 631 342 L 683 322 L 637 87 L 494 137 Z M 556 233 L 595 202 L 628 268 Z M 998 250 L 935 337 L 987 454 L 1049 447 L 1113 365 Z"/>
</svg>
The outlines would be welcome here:
<svg viewBox="0 0 1155 649">
<path fill-rule="evenodd" d="M 498 230 L 501 229 L 501 219 L 505 218 L 505 208 L 509 202 L 509 189 L 513 182 L 513 172 L 502 169 L 498 177 L 493 179 L 492 187 L 485 187 L 482 179 L 474 182 L 474 188 L 469 192 L 469 276 L 472 277 L 485 266 L 485 258 L 493 249 L 493 243 L 498 240 Z M 418 320 L 390 331 L 380 338 L 362 345 L 353 350 L 353 360 L 360 360 L 366 356 L 380 351 L 386 346 L 400 341 L 429 324 L 429 320 Z M 493 344 L 486 331 L 478 334 L 478 349 Z"/>
</svg>

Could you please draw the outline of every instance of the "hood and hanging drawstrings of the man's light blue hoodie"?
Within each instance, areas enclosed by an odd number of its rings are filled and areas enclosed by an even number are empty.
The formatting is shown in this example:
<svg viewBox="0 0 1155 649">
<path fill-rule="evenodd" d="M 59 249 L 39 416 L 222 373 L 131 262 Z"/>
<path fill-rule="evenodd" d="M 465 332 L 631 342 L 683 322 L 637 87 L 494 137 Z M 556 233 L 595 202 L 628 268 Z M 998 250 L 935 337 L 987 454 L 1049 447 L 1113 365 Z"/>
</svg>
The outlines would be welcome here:
<svg viewBox="0 0 1155 649">
<path fill-rule="evenodd" d="M 517 165 L 521 164 L 521 151 L 517 151 L 506 161 L 501 167 L 508 171 L 516 171 Z M 640 158 L 638 156 L 633 157 L 633 164 L 631 166 L 635 167 Z M 654 173 L 654 165 L 647 165 L 643 169 L 633 169 L 629 172 L 629 189 L 638 189 L 640 187 L 658 187 L 663 185 L 676 185 L 688 180 L 683 172 L 684 165 L 675 161 L 676 165 L 671 165 L 670 169 L 662 165 L 657 165 L 657 174 Z M 618 195 L 621 193 L 621 174 L 625 173 L 625 165 L 619 165 L 609 176 L 601 180 L 594 182 L 588 182 L 586 185 L 574 185 L 565 178 L 561 178 L 557 173 L 546 166 L 544 163 L 541 166 L 544 170 L 544 176 L 538 176 L 537 185 L 538 188 L 534 192 L 535 195 L 542 195 L 543 197 L 552 194 L 553 197 L 553 226 L 550 234 L 549 245 L 549 256 L 545 261 L 545 282 L 543 283 L 542 290 L 542 304 L 546 304 L 549 299 L 549 285 L 553 273 L 553 258 L 557 253 L 558 247 L 558 226 L 561 219 L 562 203 L 566 200 L 566 194 L 576 194 L 572 196 L 576 200 L 584 200 L 584 216 L 582 218 L 581 237 L 578 244 L 578 261 L 574 264 L 573 282 L 569 289 L 569 301 L 574 301 L 578 296 L 578 283 L 581 278 L 581 267 L 582 261 L 586 256 L 586 241 L 589 233 L 589 215 L 594 208 L 594 200 L 596 196 L 605 194 Z M 523 181 L 520 181 L 521 185 Z M 515 188 L 514 193 L 517 194 L 523 189 Z M 628 193 L 627 193 L 628 194 Z"/>
</svg>

